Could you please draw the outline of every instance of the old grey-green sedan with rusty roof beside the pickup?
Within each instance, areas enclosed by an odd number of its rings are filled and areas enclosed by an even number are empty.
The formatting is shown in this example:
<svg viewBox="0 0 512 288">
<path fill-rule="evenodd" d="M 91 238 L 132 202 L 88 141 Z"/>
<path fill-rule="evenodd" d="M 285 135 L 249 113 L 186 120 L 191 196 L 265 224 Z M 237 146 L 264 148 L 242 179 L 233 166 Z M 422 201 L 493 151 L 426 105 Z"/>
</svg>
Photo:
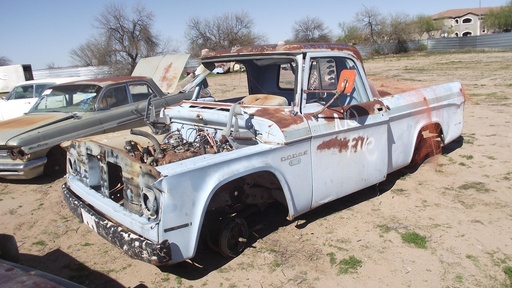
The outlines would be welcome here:
<svg viewBox="0 0 512 288">
<path fill-rule="evenodd" d="M 186 94 L 165 94 L 152 78 L 142 76 L 51 86 L 27 114 L 1 122 L 0 177 L 64 175 L 62 142 L 145 125 L 149 97 L 159 103 L 158 108 L 187 99 Z"/>
</svg>

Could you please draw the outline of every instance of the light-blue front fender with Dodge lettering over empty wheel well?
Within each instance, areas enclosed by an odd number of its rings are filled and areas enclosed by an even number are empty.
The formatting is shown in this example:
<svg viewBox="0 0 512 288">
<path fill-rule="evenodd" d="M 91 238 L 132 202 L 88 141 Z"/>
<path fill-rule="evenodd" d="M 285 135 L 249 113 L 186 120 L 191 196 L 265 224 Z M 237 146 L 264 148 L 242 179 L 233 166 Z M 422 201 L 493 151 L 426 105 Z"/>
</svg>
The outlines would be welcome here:
<svg viewBox="0 0 512 288">
<path fill-rule="evenodd" d="M 297 145 L 299 144 L 295 146 Z M 300 145 L 307 146 L 305 143 Z M 289 219 L 309 210 L 312 195 L 310 190 L 309 193 L 304 191 L 306 193 L 293 194 L 292 191 L 297 191 L 300 186 L 311 187 L 311 184 L 304 185 L 304 182 L 296 183 L 289 180 L 293 179 L 291 175 L 297 174 L 293 174 L 296 173 L 293 169 L 285 169 L 290 168 L 288 163 L 280 160 L 283 150 L 287 150 L 283 149 L 284 147 L 288 146 L 260 144 L 199 160 L 196 160 L 199 158 L 196 157 L 190 159 L 193 161 L 189 162 L 193 163 L 188 163 L 187 167 L 180 167 L 182 171 L 167 174 L 155 182 L 155 187 L 164 191 L 165 195 L 163 197 L 165 199 L 162 200 L 160 225 L 162 239 L 160 241 L 165 239 L 173 241 L 175 245 L 172 249 L 176 249 L 172 251 L 173 255 L 182 255 L 184 259 L 192 258 L 195 255 L 204 217 L 213 195 L 222 185 L 259 171 L 269 171 L 278 179 L 286 198 Z M 304 159 L 303 163 L 304 166 L 301 168 L 305 168 L 304 172 L 310 173 L 308 170 L 311 167 L 310 159 Z M 178 165 L 180 164 L 173 164 L 173 166 Z M 181 166 L 183 165 L 181 163 Z M 161 172 L 166 174 L 162 170 Z M 175 260 L 177 259 L 173 259 Z"/>
</svg>

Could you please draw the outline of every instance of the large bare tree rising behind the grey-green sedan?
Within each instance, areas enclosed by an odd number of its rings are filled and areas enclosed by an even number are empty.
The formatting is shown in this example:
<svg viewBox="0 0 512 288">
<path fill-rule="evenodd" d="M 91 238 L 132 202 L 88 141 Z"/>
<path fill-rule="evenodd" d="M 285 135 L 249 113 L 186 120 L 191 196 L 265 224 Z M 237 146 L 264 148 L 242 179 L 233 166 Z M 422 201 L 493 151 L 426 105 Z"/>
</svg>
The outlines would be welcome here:
<svg viewBox="0 0 512 288">
<path fill-rule="evenodd" d="M 78 65 L 107 65 L 114 74 L 131 74 L 144 57 L 166 52 L 152 31 L 154 15 L 138 4 L 128 14 L 121 4 L 111 3 L 96 17 L 99 34 L 71 51 Z"/>
</svg>

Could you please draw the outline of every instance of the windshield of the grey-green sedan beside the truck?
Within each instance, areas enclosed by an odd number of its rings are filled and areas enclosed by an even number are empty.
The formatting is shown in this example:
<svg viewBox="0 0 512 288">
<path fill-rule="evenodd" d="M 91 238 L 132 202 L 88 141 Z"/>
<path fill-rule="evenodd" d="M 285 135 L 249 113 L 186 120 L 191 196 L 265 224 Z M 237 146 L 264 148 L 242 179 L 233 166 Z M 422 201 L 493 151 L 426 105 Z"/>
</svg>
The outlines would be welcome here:
<svg viewBox="0 0 512 288">
<path fill-rule="evenodd" d="M 62 85 L 46 89 L 28 113 L 94 111 L 98 85 Z"/>
</svg>

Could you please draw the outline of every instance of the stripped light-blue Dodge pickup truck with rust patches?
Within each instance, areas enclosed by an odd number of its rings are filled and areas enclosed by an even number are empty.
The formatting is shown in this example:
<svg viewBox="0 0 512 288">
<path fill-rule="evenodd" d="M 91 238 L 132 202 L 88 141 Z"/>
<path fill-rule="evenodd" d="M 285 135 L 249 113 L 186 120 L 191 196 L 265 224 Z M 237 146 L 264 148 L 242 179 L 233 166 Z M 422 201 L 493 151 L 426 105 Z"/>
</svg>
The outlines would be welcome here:
<svg viewBox="0 0 512 288">
<path fill-rule="evenodd" d="M 235 257 L 253 211 L 281 203 L 292 220 L 421 163 L 462 132 L 460 83 L 382 97 L 353 46 L 236 47 L 204 51 L 201 62 L 182 90 L 191 101 L 148 105 L 145 129 L 67 146 L 70 210 L 154 265 L 194 257 L 200 239 Z M 233 62 L 243 71 L 205 81 Z"/>
</svg>

